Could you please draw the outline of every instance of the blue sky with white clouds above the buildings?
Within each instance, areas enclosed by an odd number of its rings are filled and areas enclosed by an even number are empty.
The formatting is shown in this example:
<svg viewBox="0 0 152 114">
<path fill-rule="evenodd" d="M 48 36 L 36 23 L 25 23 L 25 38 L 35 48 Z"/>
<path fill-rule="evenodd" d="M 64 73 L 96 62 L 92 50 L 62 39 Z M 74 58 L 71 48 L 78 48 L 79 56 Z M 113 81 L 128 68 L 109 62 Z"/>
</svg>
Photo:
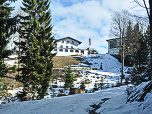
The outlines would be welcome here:
<svg viewBox="0 0 152 114">
<path fill-rule="evenodd" d="M 148 0 L 147 0 L 148 1 Z M 142 3 L 142 0 L 139 0 Z M 14 4 L 17 12 L 21 0 Z M 80 48 L 91 48 L 99 53 L 108 52 L 109 29 L 114 11 L 128 10 L 132 14 L 146 15 L 140 7 L 132 9 L 136 4 L 133 0 L 51 0 L 52 25 L 56 39 L 72 37 L 82 42 Z"/>
</svg>

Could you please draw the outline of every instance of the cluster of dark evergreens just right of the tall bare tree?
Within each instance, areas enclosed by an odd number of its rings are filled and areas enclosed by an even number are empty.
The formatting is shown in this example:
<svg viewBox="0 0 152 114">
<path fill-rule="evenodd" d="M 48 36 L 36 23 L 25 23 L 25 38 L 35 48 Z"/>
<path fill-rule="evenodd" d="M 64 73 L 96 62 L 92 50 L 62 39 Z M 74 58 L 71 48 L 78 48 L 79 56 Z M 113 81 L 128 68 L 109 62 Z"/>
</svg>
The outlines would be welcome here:
<svg viewBox="0 0 152 114">
<path fill-rule="evenodd" d="M 147 64 L 147 35 L 141 32 L 138 22 L 133 26 L 129 21 L 124 42 L 127 59 L 132 60 L 139 69 L 141 64 Z"/>
</svg>

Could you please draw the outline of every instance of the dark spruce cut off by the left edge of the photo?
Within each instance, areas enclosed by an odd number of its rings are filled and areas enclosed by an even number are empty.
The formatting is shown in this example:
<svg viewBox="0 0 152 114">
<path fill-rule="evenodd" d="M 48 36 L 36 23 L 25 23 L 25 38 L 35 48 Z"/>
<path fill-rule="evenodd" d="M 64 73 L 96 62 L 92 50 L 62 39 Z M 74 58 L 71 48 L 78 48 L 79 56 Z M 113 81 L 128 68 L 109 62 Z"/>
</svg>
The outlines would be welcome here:
<svg viewBox="0 0 152 114">
<path fill-rule="evenodd" d="M 10 1 L 10 2 L 9 2 Z M 1 0 L 0 1 L 0 81 L 6 74 L 7 69 L 4 64 L 4 58 L 8 56 L 6 46 L 9 43 L 10 36 L 16 32 L 17 16 L 11 18 L 11 11 L 14 10 L 10 7 L 11 2 L 16 0 Z"/>
</svg>

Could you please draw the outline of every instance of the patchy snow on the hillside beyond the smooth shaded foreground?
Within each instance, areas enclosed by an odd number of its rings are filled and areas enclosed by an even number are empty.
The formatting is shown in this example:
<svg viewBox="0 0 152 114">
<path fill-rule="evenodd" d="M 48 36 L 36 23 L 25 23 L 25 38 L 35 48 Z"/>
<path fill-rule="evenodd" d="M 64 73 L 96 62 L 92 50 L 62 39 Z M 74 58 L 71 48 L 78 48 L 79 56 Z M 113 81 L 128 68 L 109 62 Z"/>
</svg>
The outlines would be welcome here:
<svg viewBox="0 0 152 114">
<path fill-rule="evenodd" d="M 12 55 L 9 56 L 9 59 L 13 59 L 17 56 Z M 85 84 L 86 86 L 86 90 L 88 90 L 88 92 L 90 92 L 93 88 L 95 83 L 96 84 L 100 84 L 101 83 L 101 79 L 103 78 L 103 88 L 109 88 L 112 86 L 115 86 L 118 82 L 120 82 L 120 75 L 121 75 L 121 63 L 114 57 L 112 57 L 109 54 L 98 54 L 98 55 L 89 55 L 89 56 L 80 56 L 81 58 L 83 58 L 84 60 L 82 61 L 82 63 L 78 64 L 78 65 L 71 65 L 71 70 L 72 71 L 76 71 L 73 72 L 73 75 L 75 76 L 76 74 L 81 75 L 80 77 L 76 78 L 76 81 L 74 81 L 74 87 L 75 88 L 79 88 L 80 87 L 80 83 L 82 81 L 88 80 L 90 83 L 89 84 Z M 5 64 L 10 64 L 10 65 L 14 65 L 15 62 L 17 60 L 9 60 L 9 61 L 5 61 Z M 102 63 L 102 70 L 100 69 Z M 127 67 L 125 67 L 125 71 L 127 70 Z M 129 74 L 126 74 L 126 77 Z M 124 82 L 125 80 L 123 80 Z M 57 84 L 55 84 L 57 82 Z M 54 90 L 50 90 L 48 89 L 48 95 L 45 96 L 45 98 L 50 98 L 50 97 L 54 97 L 57 96 L 58 94 L 60 94 L 59 90 L 63 90 L 65 95 L 69 94 L 69 90 L 64 90 L 62 87 L 64 87 L 64 82 L 61 82 L 58 78 L 58 80 L 55 80 L 53 83 L 51 83 L 50 86 L 56 85 L 57 88 L 54 88 Z M 16 88 L 14 90 L 9 90 L 8 93 L 11 93 L 12 96 L 15 96 L 16 93 L 18 91 L 21 91 L 22 88 Z M 4 101 L 4 98 L 2 98 L 2 100 L 0 100 L 0 102 Z"/>
</svg>

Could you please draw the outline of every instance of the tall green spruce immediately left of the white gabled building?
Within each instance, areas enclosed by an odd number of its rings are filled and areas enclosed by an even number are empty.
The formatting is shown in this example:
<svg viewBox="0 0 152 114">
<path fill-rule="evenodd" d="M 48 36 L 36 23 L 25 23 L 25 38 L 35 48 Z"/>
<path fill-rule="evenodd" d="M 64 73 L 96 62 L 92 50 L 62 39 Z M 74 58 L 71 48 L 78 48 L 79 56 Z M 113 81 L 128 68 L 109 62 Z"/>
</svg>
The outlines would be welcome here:
<svg viewBox="0 0 152 114">
<path fill-rule="evenodd" d="M 23 93 L 20 94 L 22 100 L 28 92 L 33 93 L 33 98 L 44 98 L 49 81 L 52 76 L 53 62 L 55 54 L 51 25 L 51 11 L 49 10 L 50 0 L 23 0 L 24 7 L 21 9 L 27 14 L 20 16 L 20 38 L 23 63 L 22 73 L 17 80 L 24 84 Z M 38 93 L 37 96 L 34 93 Z"/>
</svg>

